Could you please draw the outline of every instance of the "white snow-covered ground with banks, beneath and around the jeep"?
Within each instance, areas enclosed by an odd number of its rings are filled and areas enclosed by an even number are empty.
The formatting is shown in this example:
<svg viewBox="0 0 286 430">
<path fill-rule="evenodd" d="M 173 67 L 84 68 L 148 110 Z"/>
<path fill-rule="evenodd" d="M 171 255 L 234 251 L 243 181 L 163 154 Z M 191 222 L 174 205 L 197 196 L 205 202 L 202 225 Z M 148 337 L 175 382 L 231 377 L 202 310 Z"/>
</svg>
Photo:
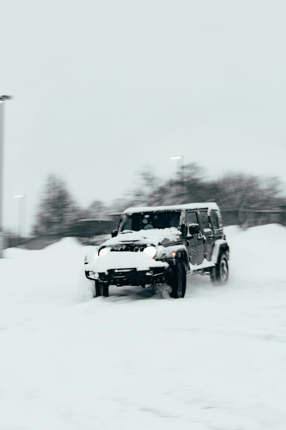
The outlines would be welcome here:
<svg viewBox="0 0 286 430">
<path fill-rule="evenodd" d="M 0 260 L 1 430 L 286 428 L 286 228 L 226 227 L 229 283 L 92 298 L 67 238 Z M 90 248 L 90 247 L 89 247 Z"/>
</svg>

